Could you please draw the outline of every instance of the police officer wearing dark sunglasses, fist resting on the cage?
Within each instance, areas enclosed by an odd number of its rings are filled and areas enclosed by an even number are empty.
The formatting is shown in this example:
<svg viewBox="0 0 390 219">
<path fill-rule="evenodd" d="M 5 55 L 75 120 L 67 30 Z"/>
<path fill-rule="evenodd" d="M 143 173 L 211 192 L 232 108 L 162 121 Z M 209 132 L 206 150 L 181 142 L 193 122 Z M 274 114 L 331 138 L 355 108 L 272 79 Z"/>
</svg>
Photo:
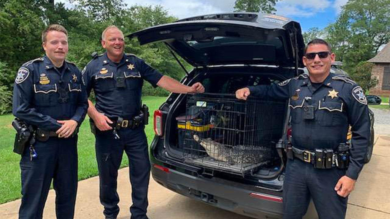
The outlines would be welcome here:
<svg viewBox="0 0 390 219">
<path fill-rule="evenodd" d="M 304 54 L 308 75 L 242 88 L 236 97 L 289 99 L 293 156 L 287 159 L 285 170 L 283 218 L 301 219 L 311 196 L 319 218 L 340 219 L 345 217 L 347 196 L 354 189 L 369 145 L 367 99 L 354 81 L 330 73 L 335 54 L 326 41 L 309 42 Z M 349 125 L 350 150 L 345 145 Z"/>
</svg>

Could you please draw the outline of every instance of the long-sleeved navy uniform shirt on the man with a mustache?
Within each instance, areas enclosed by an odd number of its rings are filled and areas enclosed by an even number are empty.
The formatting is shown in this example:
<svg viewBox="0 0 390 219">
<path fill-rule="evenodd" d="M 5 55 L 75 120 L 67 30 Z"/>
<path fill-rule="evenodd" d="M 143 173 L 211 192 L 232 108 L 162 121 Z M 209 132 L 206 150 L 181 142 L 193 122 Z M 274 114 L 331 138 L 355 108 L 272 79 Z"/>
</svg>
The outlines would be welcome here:
<svg viewBox="0 0 390 219">
<path fill-rule="evenodd" d="M 12 113 L 28 124 L 57 131 L 57 120 L 83 121 L 87 92 L 76 65 L 65 61 L 59 72 L 46 56 L 26 62 L 14 83 Z"/>
</svg>

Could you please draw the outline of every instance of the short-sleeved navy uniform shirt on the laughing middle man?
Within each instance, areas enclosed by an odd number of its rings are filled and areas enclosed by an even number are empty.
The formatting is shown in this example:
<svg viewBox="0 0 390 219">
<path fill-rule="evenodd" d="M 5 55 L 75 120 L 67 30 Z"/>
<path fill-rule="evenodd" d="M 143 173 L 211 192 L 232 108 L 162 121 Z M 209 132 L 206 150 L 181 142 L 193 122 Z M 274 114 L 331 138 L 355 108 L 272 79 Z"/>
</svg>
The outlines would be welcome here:
<svg viewBox="0 0 390 219">
<path fill-rule="evenodd" d="M 94 88 L 97 111 L 109 118 L 128 119 L 140 113 L 143 79 L 157 87 L 163 76 L 134 55 L 124 54 L 114 63 L 107 53 L 89 62 L 82 74 L 88 95 Z"/>
</svg>

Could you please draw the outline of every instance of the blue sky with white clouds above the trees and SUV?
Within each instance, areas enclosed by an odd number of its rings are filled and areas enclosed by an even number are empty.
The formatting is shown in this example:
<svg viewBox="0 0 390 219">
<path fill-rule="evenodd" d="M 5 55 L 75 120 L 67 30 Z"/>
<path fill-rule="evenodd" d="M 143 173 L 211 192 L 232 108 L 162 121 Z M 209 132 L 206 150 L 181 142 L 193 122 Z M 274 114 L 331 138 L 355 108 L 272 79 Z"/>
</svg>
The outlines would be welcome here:
<svg viewBox="0 0 390 219">
<path fill-rule="evenodd" d="M 67 2 L 67 0 L 59 0 L 59 2 Z M 124 2 L 129 6 L 162 5 L 170 15 L 187 18 L 232 12 L 235 0 L 124 0 Z M 300 22 L 303 31 L 311 27 L 324 28 L 328 23 L 335 21 L 341 6 L 346 2 L 347 0 L 281 0 L 277 2 L 276 14 Z"/>
</svg>

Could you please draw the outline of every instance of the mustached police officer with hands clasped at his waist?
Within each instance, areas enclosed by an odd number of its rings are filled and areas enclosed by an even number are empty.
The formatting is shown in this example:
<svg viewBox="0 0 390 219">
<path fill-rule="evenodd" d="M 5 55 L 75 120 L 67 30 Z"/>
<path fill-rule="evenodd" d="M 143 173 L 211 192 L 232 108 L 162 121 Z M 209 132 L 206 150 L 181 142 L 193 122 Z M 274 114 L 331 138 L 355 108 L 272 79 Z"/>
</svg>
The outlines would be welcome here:
<svg viewBox="0 0 390 219">
<path fill-rule="evenodd" d="M 65 60 L 66 29 L 48 26 L 42 46 L 46 55 L 23 64 L 14 83 L 12 113 L 35 128 L 20 161 L 19 218 L 42 218 L 53 179 L 57 218 L 70 219 L 77 190 L 76 129 L 87 112 L 87 92 L 78 68 Z"/>
</svg>

